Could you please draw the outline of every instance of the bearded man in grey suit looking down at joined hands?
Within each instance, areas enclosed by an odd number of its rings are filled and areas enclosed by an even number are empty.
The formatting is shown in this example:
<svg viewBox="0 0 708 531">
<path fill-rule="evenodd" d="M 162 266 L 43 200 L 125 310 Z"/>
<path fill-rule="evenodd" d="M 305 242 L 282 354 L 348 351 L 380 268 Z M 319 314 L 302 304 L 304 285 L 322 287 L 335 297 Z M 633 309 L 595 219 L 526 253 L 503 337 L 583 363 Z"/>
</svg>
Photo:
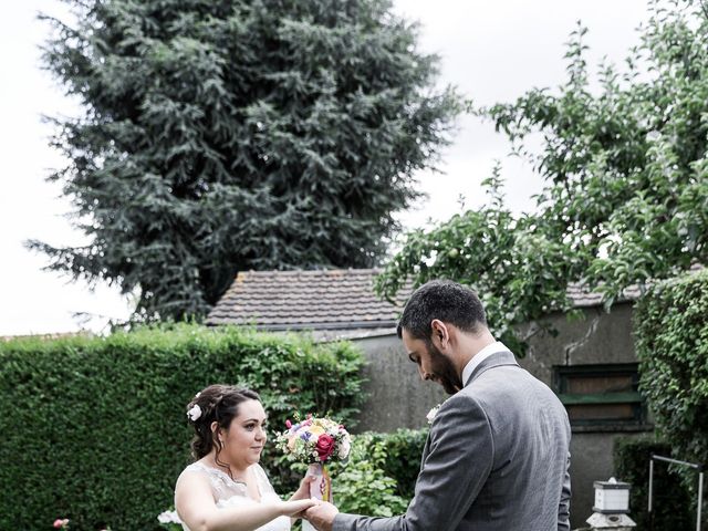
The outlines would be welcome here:
<svg viewBox="0 0 708 531">
<path fill-rule="evenodd" d="M 569 531 L 571 428 L 544 384 L 494 341 L 469 289 L 420 287 L 398 324 L 423 379 L 452 395 L 423 450 L 415 496 L 404 516 L 308 509 L 322 531 Z"/>
</svg>

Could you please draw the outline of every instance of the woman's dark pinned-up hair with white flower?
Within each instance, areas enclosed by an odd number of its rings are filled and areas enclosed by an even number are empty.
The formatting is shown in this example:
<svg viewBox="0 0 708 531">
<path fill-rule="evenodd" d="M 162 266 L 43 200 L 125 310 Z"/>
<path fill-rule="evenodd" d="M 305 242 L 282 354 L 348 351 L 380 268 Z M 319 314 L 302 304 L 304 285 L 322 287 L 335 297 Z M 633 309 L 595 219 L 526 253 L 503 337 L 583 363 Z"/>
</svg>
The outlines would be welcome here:
<svg viewBox="0 0 708 531">
<path fill-rule="evenodd" d="M 201 459 L 216 448 L 217 464 L 229 468 L 227 464 L 219 461 L 222 445 L 211 431 L 211 424 L 216 421 L 219 428 L 229 429 L 231 420 L 239 414 L 239 404 L 246 400 L 260 402 L 261 398 L 254 391 L 219 384 L 210 385 L 197 393 L 197 396 L 187 405 L 187 415 L 195 428 L 195 436 L 191 439 L 191 457 L 195 460 Z M 200 413 L 197 418 L 194 418 L 196 409 Z"/>
</svg>

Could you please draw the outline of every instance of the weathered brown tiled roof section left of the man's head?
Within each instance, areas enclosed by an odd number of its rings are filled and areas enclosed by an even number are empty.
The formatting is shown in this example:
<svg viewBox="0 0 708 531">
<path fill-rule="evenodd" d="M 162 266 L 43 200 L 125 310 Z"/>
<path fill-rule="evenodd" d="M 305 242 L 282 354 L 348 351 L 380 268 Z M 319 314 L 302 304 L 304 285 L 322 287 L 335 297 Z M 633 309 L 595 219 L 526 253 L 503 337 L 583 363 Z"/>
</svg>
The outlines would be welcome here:
<svg viewBox="0 0 708 531">
<path fill-rule="evenodd" d="M 266 330 L 391 329 L 397 304 L 374 293 L 376 269 L 240 272 L 207 324 L 252 324 Z M 403 291 L 403 290 L 402 290 Z"/>
</svg>

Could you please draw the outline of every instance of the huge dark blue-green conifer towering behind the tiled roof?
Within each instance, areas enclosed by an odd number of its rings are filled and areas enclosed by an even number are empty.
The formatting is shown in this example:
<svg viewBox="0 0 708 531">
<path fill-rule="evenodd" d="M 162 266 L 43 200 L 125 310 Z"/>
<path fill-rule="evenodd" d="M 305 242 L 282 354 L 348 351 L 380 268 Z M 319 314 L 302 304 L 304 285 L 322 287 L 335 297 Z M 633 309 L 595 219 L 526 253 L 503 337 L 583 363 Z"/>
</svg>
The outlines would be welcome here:
<svg viewBox="0 0 708 531">
<path fill-rule="evenodd" d="M 70 1 L 45 66 L 84 247 L 51 269 L 204 315 L 246 269 L 368 267 L 458 111 L 388 0 Z"/>
</svg>

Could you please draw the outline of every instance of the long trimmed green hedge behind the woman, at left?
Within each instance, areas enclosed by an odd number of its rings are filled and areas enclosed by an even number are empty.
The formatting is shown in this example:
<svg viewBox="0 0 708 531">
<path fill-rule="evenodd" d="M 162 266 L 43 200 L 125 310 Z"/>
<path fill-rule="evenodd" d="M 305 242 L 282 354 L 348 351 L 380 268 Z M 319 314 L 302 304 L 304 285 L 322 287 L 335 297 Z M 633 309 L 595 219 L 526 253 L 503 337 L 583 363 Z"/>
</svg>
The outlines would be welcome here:
<svg viewBox="0 0 708 531">
<path fill-rule="evenodd" d="M 351 419 L 362 364 L 346 343 L 195 325 L 0 343 L 0 529 L 59 517 L 73 530 L 159 529 L 189 462 L 185 405 L 197 391 L 258 391 L 273 430 L 294 409 Z M 292 487 L 284 470 L 271 478 Z"/>
</svg>

